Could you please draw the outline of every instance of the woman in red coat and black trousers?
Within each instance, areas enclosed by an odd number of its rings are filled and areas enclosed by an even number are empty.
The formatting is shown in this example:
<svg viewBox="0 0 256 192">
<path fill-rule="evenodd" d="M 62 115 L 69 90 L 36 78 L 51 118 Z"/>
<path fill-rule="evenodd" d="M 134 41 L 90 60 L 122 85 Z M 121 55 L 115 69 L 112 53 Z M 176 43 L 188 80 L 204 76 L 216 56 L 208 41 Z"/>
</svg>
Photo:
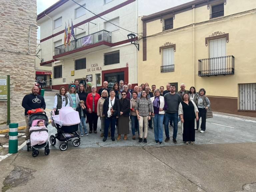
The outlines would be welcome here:
<svg viewBox="0 0 256 192">
<path fill-rule="evenodd" d="M 98 123 L 98 115 L 97 115 L 97 103 L 100 99 L 100 95 L 96 93 L 96 86 L 92 86 L 92 92 L 87 95 L 86 98 L 86 108 L 88 111 L 87 119 L 89 121 L 89 133 L 97 133 L 97 123 Z"/>
</svg>

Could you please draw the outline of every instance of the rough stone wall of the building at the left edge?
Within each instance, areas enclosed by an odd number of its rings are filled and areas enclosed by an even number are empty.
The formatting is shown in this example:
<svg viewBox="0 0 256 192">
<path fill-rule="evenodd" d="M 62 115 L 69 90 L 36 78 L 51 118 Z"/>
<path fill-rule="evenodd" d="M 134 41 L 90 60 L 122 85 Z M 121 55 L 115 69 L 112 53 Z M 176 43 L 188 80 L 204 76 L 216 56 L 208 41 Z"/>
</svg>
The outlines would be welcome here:
<svg viewBox="0 0 256 192">
<path fill-rule="evenodd" d="M 30 54 L 27 52 L 30 25 L 37 25 L 36 0 L 1 0 L 0 19 L 0 75 L 10 75 L 11 122 L 19 122 L 24 119 L 22 99 L 31 93 L 35 80 L 35 26 L 31 27 Z M 0 101 L 0 124 L 6 121 L 7 101 Z"/>
</svg>

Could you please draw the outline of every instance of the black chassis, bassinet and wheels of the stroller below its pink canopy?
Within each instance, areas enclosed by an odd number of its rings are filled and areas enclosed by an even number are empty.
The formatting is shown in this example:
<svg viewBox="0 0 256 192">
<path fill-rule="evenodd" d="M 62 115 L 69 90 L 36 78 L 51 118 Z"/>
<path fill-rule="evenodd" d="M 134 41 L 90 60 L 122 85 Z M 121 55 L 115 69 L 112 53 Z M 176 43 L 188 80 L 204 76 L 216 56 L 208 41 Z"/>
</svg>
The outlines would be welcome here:
<svg viewBox="0 0 256 192">
<path fill-rule="evenodd" d="M 74 112 L 77 112 L 77 111 L 74 111 Z M 54 135 L 50 136 L 50 143 L 52 145 L 55 145 L 56 139 L 58 139 L 59 141 L 64 141 L 64 143 L 60 145 L 61 151 L 65 151 L 68 148 L 69 141 L 72 141 L 72 140 L 73 140 L 73 145 L 75 147 L 78 147 L 81 141 L 81 138 L 77 133 L 79 123 L 75 125 L 69 125 L 69 126 L 66 126 L 66 125 L 60 126 L 60 124 L 57 123 L 59 120 L 59 115 L 53 115 L 52 111 L 50 112 L 50 115 L 52 119 L 52 126 L 54 126 L 57 129 L 57 133 L 55 134 L 55 136 Z"/>
</svg>

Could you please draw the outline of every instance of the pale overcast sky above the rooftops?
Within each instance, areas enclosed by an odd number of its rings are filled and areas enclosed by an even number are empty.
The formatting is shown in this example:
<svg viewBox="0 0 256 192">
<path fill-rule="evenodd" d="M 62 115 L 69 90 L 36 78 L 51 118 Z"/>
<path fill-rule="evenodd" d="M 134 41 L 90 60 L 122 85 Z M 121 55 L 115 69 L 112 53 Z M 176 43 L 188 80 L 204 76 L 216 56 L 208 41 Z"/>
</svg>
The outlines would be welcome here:
<svg viewBox="0 0 256 192">
<path fill-rule="evenodd" d="M 58 0 L 37 0 L 37 15 L 56 3 Z M 95 0 L 103 1 L 103 0 Z M 192 0 L 138 0 L 138 16 L 150 15 Z M 40 27 L 37 30 L 37 39 L 40 39 Z"/>
</svg>

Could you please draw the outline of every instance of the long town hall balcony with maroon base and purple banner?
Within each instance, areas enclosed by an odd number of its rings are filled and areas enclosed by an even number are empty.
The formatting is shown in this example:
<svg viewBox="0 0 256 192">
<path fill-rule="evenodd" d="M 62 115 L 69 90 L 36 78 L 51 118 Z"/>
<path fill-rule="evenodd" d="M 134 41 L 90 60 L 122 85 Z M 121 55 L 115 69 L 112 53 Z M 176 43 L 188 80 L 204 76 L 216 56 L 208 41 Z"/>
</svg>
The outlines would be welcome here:
<svg viewBox="0 0 256 192">
<path fill-rule="evenodd" d="M 54 48 L 53 59 L 66 59 L 111 47 L 111 32 L 101 30 Z"/>
</svg>

